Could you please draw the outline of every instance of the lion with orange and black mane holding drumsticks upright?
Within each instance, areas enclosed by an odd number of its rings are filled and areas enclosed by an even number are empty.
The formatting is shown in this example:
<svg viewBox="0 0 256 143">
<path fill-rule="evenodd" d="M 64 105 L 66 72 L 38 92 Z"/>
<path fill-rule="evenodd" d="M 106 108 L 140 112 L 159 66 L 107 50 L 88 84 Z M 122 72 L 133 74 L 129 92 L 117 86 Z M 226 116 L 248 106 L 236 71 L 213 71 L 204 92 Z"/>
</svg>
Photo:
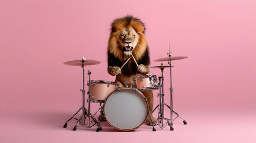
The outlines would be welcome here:
<svg viewBox="0 0 256 143">
<path fill-rule="evenodd" d="M 131 15 L 117 18 L 111 24 L 110 37 L 107 46 L 107 72 L 116 76 L 115 81 L 120 87 L 125 84 L 132 86 L 132 77 L 144 76 L 150 71 L 149 46 L 147 45 L 144 23 Z M 131 57 L 124 67 L 122 65 Z M 120 68 L 122 67 L 122 69 Z M 150 117 L 147 116 L 147 125 L 156 125 L 156 120 L 152 116 L 153 110 L 153 92 L 144 91 L 143 95 L 147 98 L 149 105 Z"/>
</svg>

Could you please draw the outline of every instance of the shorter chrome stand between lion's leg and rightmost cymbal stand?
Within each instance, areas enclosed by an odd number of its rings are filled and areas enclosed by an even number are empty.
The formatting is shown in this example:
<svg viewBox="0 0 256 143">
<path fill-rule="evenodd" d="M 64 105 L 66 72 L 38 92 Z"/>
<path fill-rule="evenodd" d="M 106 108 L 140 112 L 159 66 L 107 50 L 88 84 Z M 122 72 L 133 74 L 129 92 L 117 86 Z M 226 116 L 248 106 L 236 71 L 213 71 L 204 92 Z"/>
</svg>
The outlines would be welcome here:
<svg viewBox="0 0 256 143">
<path fill-rule="evenodd" d="M 161 63 L 161 66 L 163 66 L 163 63 Z M 158 108 L 158 119 L 157 119 L 157 121 L 158 121 L 158 126 L 161 129 L 165 128 L 164 120 L 166 120 L 166 122 L 170 126 L 170 130 L 174 130 L 172 128 L 170 120 L 165 118 L 165 116 L 164 116 L 164 105 L 166 105 L 169 108 L 169 106 L 167 104 L 165 104 L 165 102 L 164 102 L 164 96 L 165 96 L 165 94 L 164 94 L 164 68 L 161 68 L 161 73 L 162 73 L 162 76 L 159 77 L 159 94 L 158 94 L 159 104 L 155 107 L 153 112 L 156 110 L 156 108 Z"/>
</svg>

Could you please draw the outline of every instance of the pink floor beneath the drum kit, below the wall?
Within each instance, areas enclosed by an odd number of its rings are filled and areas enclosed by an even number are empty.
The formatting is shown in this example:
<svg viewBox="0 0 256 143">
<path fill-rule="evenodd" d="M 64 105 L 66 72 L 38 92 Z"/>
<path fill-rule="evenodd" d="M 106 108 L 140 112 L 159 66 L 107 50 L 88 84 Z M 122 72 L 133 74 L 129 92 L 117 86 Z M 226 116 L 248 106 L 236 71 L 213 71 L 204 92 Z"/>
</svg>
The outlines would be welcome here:
<svg viewBox="0 0 256 143">
<path fill-rule="evenodd" d="M 174 120 L 174 130 L 169 126 L 152 132 L 151 126 L 142 125 L 131 132 L 113 129 L 107 122 L 103 130 L 95 132 L 96 126 L 84 128 L 75 120 L 67 128 L 63 125 L 75 113 L 75 108 L 63 110 L 38 110 L 5 112 L 0 117 L 0 142 L 255 142 L 255 111 L 180 113 L 187 121 Z M 79 113 L 80 116 L 80 113 Z M 168 115 L 166 115 L 168 116 Z M 168 117 L 169 118 L 169 117 Z"/>
</svg>

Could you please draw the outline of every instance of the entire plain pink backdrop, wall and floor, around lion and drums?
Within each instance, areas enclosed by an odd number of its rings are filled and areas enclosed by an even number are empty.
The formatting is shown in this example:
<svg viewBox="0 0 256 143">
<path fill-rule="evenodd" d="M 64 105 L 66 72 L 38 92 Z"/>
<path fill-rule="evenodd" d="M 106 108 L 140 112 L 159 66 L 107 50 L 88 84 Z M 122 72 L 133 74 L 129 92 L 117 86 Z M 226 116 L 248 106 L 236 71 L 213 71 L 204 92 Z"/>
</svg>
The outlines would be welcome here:
<svg viewBox="0 0 256 143">
<path fill-rule="evenodd" d="M 167 57 L 168 44 L 172 56 L 189 57 L 172 62 L 174 110 L 188 125 L 177 119 L 174 131 L 154 133 L 146 125 L 117 134 L 73 132 L 74 122 L 63 129 L 82 104 L 82 69 L 63 63 L 98 60 L 85 67 L 91 79 L 115 80 L 107 73 L 109 29 L 127 14 L 146 24 L 151 66 Z M 255 142 L 255 55 L 253 0 L 0 0 L 0 142 Z M 169 69 L 164 76 L 169 104 Z"/>
</svg>

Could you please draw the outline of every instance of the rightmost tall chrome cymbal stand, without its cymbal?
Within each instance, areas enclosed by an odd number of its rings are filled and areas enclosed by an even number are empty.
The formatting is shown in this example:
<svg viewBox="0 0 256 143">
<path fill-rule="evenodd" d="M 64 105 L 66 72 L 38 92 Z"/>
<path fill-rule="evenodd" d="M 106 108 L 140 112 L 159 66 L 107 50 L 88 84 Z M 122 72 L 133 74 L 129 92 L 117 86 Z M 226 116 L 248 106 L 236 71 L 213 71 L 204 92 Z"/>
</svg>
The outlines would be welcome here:
<svg viewBox="0 0 256 143">
<path fill-rule="evenodd" d="M 169 61 L 168 61 L 168 64 L 169 64 L 169 66 L 170 66 L 170 88 L 169 88 L 169 90 L 170 90 L 170 106 L 171 107 L 168 107 L 169 109 L 170 109 L 170 111 L 171 111 L 171 114 L 170 114 L 170 116 L 171 116 L 171 125 L 172 125 L 172 122 L 175 120 L 175 119 L 177 119 L 178 117 L 180 117 L 180 115 L 177 113 L 177 112 L 175 112 L 174 110 L 173 110 L 173 100 L 172 100 L 172 94 L 173 94 L 173 88 L 172 88 L 172 66 L 171 66 L 171 51 L 170 51 L 170 49 L 169 49 L 169 53 L 167 53 L 168 54 L 168 57 L 169 57 Z M 177 117 L 175 117 L 175 119 L 173 119 L 173 113 L 174 114 L 176 114 L 177 115 Z M 184 125 L 187 125 L 187 122 L 186 122 L 186 120 L 184 120 L 182 117 L 180 117 L 180 119 L 182 119 L 183 120 L 183 123 L 184 123 Z"/>
</svg>

